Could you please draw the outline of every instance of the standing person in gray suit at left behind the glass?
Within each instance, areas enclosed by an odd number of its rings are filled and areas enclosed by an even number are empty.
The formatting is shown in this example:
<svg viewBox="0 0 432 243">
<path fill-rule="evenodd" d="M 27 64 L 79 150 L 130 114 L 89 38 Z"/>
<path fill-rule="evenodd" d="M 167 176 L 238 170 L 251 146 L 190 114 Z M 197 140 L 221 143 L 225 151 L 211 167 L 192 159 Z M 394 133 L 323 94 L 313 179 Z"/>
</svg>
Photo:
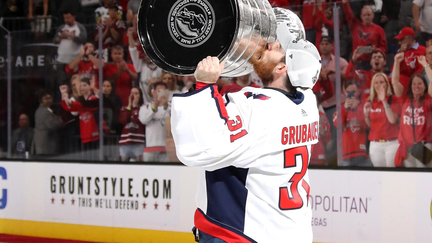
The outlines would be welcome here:
<svg viewBox="0 0 432 243">
<path fill-rule="evenodd" d="M 38 92 L 40 105 L 35 113 L 33 149 L 35 155 L 55 155 L 58 150 L 58 132 L 63 121 L 51 110 L 53 98 L 48 91 Z"/>
</svg>

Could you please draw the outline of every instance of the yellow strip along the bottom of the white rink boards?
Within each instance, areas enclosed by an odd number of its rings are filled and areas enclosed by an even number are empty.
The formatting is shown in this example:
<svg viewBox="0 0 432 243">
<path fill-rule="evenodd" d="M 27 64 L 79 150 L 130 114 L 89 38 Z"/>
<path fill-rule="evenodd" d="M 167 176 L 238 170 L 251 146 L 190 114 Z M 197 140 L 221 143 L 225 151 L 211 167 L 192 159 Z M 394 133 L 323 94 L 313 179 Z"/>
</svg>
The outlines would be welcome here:
<svg viewBox="0 0 432 243">
<path fill-rule="evenodd" d="M 192 233 L 0 218 L 0 234 L 104 243 L 194 243 Z M 318 242 L 315 242 L 318 243 Z"/>
</svg>

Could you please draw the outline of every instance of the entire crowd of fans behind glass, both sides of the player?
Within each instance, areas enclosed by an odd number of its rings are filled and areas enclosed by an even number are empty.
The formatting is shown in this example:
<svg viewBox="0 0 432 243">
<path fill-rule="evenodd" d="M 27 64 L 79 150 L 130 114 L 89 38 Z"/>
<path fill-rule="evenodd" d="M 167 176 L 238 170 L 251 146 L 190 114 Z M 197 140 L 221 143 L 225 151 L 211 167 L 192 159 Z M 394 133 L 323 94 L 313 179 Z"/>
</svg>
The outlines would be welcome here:
<svg viewBox="0 0 432 243">
<path fill-rule="evenodd" d="M 322 69 L 313 89 L 320 111 L 320 142 L 314 146 L 311 164 L 336 165 L 340 118 L 341 165 L 432 167 L 432 0 L 340 0 L 337 11 L 334 0 L 269 2 L 299 15 L 306 38 L 321 54 Z M 165 73 L 146 56 L 137 36 L 139 6 L 140 0 L 6 0 L 0 6 L 3 16 L 27 16 L 36 40 L 51 32 L 58 44 L 53 75 L 54 86 L 60 88 L 43 87 L 48 90 L 39 92 L 35 129 L 29 127 L 29 115 L 20 114 L 13 131 L 16 155 L 62 153 L 67 148 L 57 139 L 78 136 L 76 150 L 85 154 L 83 159 L 97 159 L 102 119 L 104 133 L 118 137 L 114 159 L 175 160 L 169 134 L 171 98 L 187 92 L 195 80 Z M 340 57 L 334 55 L 335 14 Z M 41 21 L 46 19 L 52 21 Z M 341 114 L 336 112 L 338 73 Z M 217 85 L 225 95 L 262 84 L 252 73 L 220 78 Z M 101 118 L 99 98 L 104 104 Z M 61 108 L 52 109 L 53 103 Z"/>
</svg>

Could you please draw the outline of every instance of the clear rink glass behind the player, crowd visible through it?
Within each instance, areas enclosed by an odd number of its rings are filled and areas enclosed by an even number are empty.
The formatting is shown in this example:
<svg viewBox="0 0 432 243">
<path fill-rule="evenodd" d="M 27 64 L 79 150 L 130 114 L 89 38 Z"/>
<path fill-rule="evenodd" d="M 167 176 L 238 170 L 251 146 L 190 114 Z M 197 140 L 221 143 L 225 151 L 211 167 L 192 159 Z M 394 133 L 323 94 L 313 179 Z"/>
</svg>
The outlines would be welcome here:
<svg viewBox="0 0 432 243">
<path fill-rule="evenodd" d="M 409 1 L 270 2 L 298 14 L 307 40 L 321 54 L 313 88 L 320 137 L 311 164 L 431 167 L 427 78 L 432 38 L 415 27 Z M 45 18 L 2 17 L 3 158 L 10 141 L 9 158 L 178 161 L 169 127 L 170 98 L 187 92 L 194 78 L 164 73 L 151 63 L 137 40 L 135 16 L 119 9 L 110 15 L 96 7 Z M 252 73 L 219 79 L 219 91 L 228 92 L 224 86 L 230 83 L 262 85 Z M 153 107 L 159 89 L 168 90 L 162 111 Z M 157 117 L 145 117 L 145 109 Z"/>
</svg>

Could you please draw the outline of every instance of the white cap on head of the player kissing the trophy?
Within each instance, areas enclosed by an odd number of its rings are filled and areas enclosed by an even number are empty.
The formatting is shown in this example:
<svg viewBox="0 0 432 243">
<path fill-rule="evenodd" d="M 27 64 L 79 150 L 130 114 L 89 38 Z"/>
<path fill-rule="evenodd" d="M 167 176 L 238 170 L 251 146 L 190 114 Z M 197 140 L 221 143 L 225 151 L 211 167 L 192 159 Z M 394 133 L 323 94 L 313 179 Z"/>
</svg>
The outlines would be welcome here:
<svg viewBox="0 0 432 243">
<path fill-rule="evenodd" d="M 321 71 L 321 57 L 317 47 L 309 41 L 291 38 L 286 47 L 285 62 L 292 86 L 313 88 Z"/>
</svg>

